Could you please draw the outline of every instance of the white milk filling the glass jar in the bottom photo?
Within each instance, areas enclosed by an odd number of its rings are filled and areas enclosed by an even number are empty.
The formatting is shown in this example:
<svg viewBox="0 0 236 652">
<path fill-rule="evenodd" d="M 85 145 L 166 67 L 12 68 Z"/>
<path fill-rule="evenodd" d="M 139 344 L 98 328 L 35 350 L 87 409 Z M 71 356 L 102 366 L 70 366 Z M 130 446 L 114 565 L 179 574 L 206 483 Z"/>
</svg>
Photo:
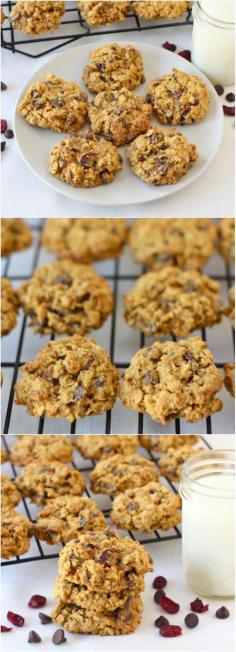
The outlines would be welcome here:
<svg viewBox="0 0 236 652">
<path fill-rule="evenodd" d="M 183 565 L 194 592 L 211 597 L 234 595 L 234 476 L 194 480 L 196 492 L 183 497 Z M 206 489 L 198 493 L 198 484 Z M 211 495 L 208 495 L 207 488 Z M 212 491 L 213 490 L 213 491 Z"/>
</svg>

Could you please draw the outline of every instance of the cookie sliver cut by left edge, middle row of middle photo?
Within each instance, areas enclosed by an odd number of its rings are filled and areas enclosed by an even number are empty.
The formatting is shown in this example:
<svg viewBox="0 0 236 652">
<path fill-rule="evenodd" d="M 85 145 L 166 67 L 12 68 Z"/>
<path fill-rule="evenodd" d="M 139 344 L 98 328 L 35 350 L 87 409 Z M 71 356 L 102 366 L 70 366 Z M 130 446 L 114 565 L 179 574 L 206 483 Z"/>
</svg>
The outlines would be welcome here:
<svg viewBox="0 0 236 652">
<path fill-rule="evenodd" d="M 1 279 L 1 336 L 8 335 L 16 326 L 18 297 L 8 278 Z"/>
</svg>

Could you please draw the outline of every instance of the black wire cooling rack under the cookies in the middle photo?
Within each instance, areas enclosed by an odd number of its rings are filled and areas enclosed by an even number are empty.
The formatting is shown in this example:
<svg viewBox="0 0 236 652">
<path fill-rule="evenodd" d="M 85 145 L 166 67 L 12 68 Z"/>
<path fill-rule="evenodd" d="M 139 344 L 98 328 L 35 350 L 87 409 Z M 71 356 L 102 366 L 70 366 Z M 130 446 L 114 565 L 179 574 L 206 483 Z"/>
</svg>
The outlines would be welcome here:
<svg viewBox="0 0 236 652">
<path fill-rule="evenodd" d="M 6 259 L 6 261 L 5 261 L 5 263 L 4 263 L 3 276 L 7 276 L 8 278 L 10 278 L 10 280 L 13 282 L 13 284 L 14 283 L 20 283 L 20 282 L 23 282 L 25 280 L 28 280 L 32 276 L 34 269 L 39 264 L 41 264 L 41 262 L 42 262 L 40 260 L 40 255 L 42 253 L 41 245 L 40 245 L 40 232 L 41 232 L 42 222 L 43 222 L 43 220 L 41 220 L 41 221 L 32 220 L 31 221 L 31 228 L 32 228 L 32 231 L 33 231 L 33 234 L 34 234 L 34 245 L 33 245 L 33 251 L 32 251 L 32 268 L 29 271 L 29 273 L 24 274 L 23 270 L 22 270 L 22 273 L 20 273 L 20 274 L 12 273 L 11 272 L 11 257 L 8 257 Z M 24 252 L 24 254 L 22 252 L 21 255 L 27 256 L 27 252 Z M 110 356 L 111 356 L 111 359 L 112 359 L 113 363 L 122 372 L 122 370 L 125 370 L 129 366 L 131 356 L 128 357 L 128 359 L 126 359 L 126 360 L 117 360 L 116 355 L 115 355 L 116 339 L 118 337 L 118 332 L 119 332 L 119 329 L 117 327 L 117 304 L 118 304 L 118 300 L 120 300 L 120 294 L 121 294 L 119 288 L 120 288 L 120 283 L 122 283 L 123 281 L 129 281 L 129 282 L 134 283 L 137 280 L 137 278 L 140 276 L 141 272 L 135 273 L 135 274 L 122 273 L 122 271 L 120 269 L 121 265 L 122 265 L 121 259 L 115 260 L 114 261 L 114 273 L 103 274 L 103 276 L 105 278 L 107 278 L 107 280 L 112 284 L 112 286 L 113 286 L 113 295 L 114 295 L 114 311 L 113 311 L 113 314 L 111 316 L 110 327 L 109 327 L 108 334 L 106 336 L 105 348 L 109 350 L 109 353 L 110 353 Z M 13 268 L 14 268 L 14 266 L 13 266 Z M 20 267 L 20 269 L 21 269 L 21 267 Z M 101 270 L 101 267 L 99 269 L 99 273 L 101 273 L 100 270 Z M 227 264 L 225 265 L 225 274 L 210 274 L 210 275 L 215 280 L 220 281 L 220 282 L 223 281 L 224 283 L 226 283 L 228 288 L 230 288 L 234 283 L 233 273 L 231 272 L 231 270 L 230 270 L 230 268 L 229 268 L 229 266 Z M 125 328 L 125 323 L 124 322 L 122 322 L 122 328 Z M 229 334 L 230 334 L 230 327 L 228 326 L 228 320 L 227 320 L 227 328 L 229 328 Z M 25 362 L 26 362 L 26 360 L 24 360 L 24 358 L 22 357 L 22 352 L 23 352 L 23 349 L 24 349 L 24 346 L 25 346 L 25 342 L 27 342 L 27 337 L 29 337 L 30 334 L 31 334 L 31 329 L 27 328 L 27 318 L 26 318 L 26 316 L 24 316 L 23 319 L 22 319 L 21 327 L 19 328 L 19 338 L 18 338 L 18 342 L 17 342 L 15 356 L 13 356 L 12 359 L 9 359 L 9 360 L 4 359 L 4 357 L 3 357 L 3 361 L 2 361 L 3 379 L 4 379 L 4 370 L 6 372 L 10 372 L 11 378 L 10 378 L 10 384 L 9 384 L 9 394 L 8 394 L 8 396 L 6 398 L 4 398 L 4 403 L 6 401 L 6 409 L 4 410 L 5 416 L 2 419 L 1 432 L 3 434 L 7 434 L 7 433 L 10 433 L 10 434 L 20 434 L 20 433 L 24 433 L 24 434 L 25 433 L 26 434 L 27 433 L 28 434 L 37 434 L 37 433 L 38 434 L 42 434 L 42 433 L 44 433 L 44 434 L 50 434 L 50 433 L 51 434 L 56 434 L 56 433 L 75 434 L 75 433 L 86 433 L 86 432 L 89 432 L 90 434 L 92 434 L 92 433 L 94 433 L 94 434 L 97 434 L 97 433 L 100 433 L 100 434 L 115 434 L 115 433 L 117 433 L 117 429 L 114 429 L 113 421 L 112 421 L 112 416 L 114 414 L 114 408 L 116 408 L 116 405 L 113 407 L 112 412 L 111 412 L 111 410 L 108 410 L 106 412 L 106 415 L 105 415 L 105 418 L 104 418 L 101 429 L 100 429 L 100 426 L 98 425 L 97 417 L 91 417 L 90 421 L 88 421 L 89 429 L 87 429 L 87 430 L 83 429 L 83 422 L 85 422 L 86 419 L 82 419 L 82 420 L 79 420 L 77 422 L 74 421 L 71 425 L 68 422 L 63 420 L 63 426 L 62 426 L 63 429 L 60 429 L 60 428 L 58 428 L 59 421 L 60 421 L 59 419 L 50 419 L 50 420 L 46 421 L 45 417 L 39 417 L 38 419 L 37 418 L 33 419 L 32 417 L 30 417 L 32 419 L 33 424 L 35 424 L 35 422 L 36 422 L 36 426 L 34 425 L 30 430 L 27 430 L 25 423 L 22 426 L 22 429 L 20 429 L 18 416 L 14 416 L 14 425 L 12 425 L 12 421 L 13 421 L 12 412 L 14 410 L 14 386 L 15 386 L 15 383 L 16 383 L 17 378 L 18 378 L 20 367 L 23 364 L 25 364 Z M 201 335 L 201 337 L 202 337 L 202 339 L 204 341 L 209 340 L 209 329 L 202 329 L 201 331 L 199 331 L 199 334 Z M 11 335 L 12 334 L 10 334 L 9 337 L 11 337 Z M 94 334 L 94 337 L 95 337 L 96 340 L 98 339 L 99 331 L 96 331 L 96 333 Z M 138 336 L 138 338 L 139 338 L 140 344 L 139 344 L 139 346 L 137 348 L 141 348 L 142 346 L 144 346 L 146 344 L 146 338 L 145 338 L 145 336 L 143 334 Z M 225 338 L 225 340 L 227 340 L 227 335 L 224 335 L 224 338 Z M 51 339 L 54 339 L 54 336 L 51 336 Z M 176 338 L 173 338 L 173 339 L 176 340 Z M 108 342 L 107 342 L 107 340 L 108 340 Z M 220 338 L 220 340 L 222 340 L 222 337 Z M 36 342 L 37 342 L 37 350 L 39 350 L 43 346 L 43 344 L 41 343 L 41 340 L 40 340 L 40 338 L 38 336 L 37 336 Z M 100 342 L 98 342 L 98 343 L 100 343 Z M 209 345 L 209 348 L 211 350 L 210 345 Z M 231 346 L 231 349 L 232 349 L 231 358 L 229 358 L 227 360 L 225 359 L 223 361 L 217 361 L 217 359 L 216 359 L 215 364 L 217 365 L 218 368 L 223 369 L 223 366 L 224 366 L 225 362 L 229 362 L 229 361 L 233 360 L 233 350 L 234 350 L 234 330 L 233 329 L 232 329 L 232 346 Z M 137 349 L 135 349 L 135 350 L 137 350 Z M 4 344 L 3 344 L 3 351 L 4 351 Z M 11 348 L 9 349 L 9 353 L 12 354 Z M 223 351 L 223 353 L 224 353 L 224 351 Z M 3 380 L 3 387 L 4 387 L 4 380 Z M 226 400 L 229 399 L 229 401 L 233 402 L 233 400 L 229 397 L 227 392 L 225 392 L 225 396 L 226 396 Z M 230 405 L 232 405 L 232 403 L 230 403 Z M 20 409 L 21 411 L 25 410 L 24 407 L 20 407 L 18 409 Z M 147 428 L 147 422 L 145 422 L 145 416 L 143 414 L 141 414 L 141 413 L 139 413 L 138 418 L 137 418 L 137 426 L 135 425 L 135 429 L 132 429 L 130 427 L 130 425 L 128 425 L 129 424 L 130 411 L 128 411 L 127 408 L 125 408 L 122 405 L 120 407 L 118 406 L 117 409 L 119 410 L 119 414 L 118 414 L 119 427 L 120 427 L 120 415 L 121 414 L 124 414 L 124 415 L 127 414 L 127 422 L 125 423 L 125 427 L 123 429 L 121 428 L 121 429 L 118 430 L 119 434 L 122 434 L 122 433 L 152 434 L 152 433 L 155 433 L 155 432 L 157 432 L 159 434 L 165 432 L 165 434 L 166 434 L 167 432 L 173 432 L 172 430 L 171 431 L 168 430 L 167 427 L 165 427 L 165 430 L 163 430 L 162 426 L 160 426 L 160 429 L 158 429 L 157 424 L 155 424 L 155 428 L 157 428 L 157 429 L 155 429 L 155 430 L 148 429 Z M 126 410 L 126 412 L 121 412 L 121 411 L 125 411 L 125 410 Z M 132 412 L 132 414 L 137 414 L 137 413 Z M 25 417 L 27 418 L 26 413 L 25 413 Z M 89 419 L 89 418 L 87 418 L 87 419 Z M 53 430 L 51 429 L 51 424 L 52 423 L 53 423 Z M 90 425 L 91 423 L 92 423 L 92 425 Z M 151 420 L 150 420 L 150 423 L 151 423 Z M 174 432 L 176 434 L 180 434 L 180 433 L 182 433 L 182 434 L 187 434 L 187 433 L 188 434 L 192 434 L 192 433 L 193 434 L 194 433 L 198 434 L 199 432 L 201 432 L 202 434 L 204 434 L 204 433 L 206 433 L 206 434 L 216 434 L 217 432 L 219 433 L 219 430 L 217 430 L 216 432 L 214 430 L 214 427 L 212 425 L 212 417 L 207 417 L 206 422 L 205 422 L 205 428 L 203 427 L 203 422 L 201 422 L 200 426 L 198 426 L 198 424 L 188 424 L 188 430 L 186 431 L 186 429 L 183 428 L 182 423 L 183 423 L 182 421 L 180 421 L 179 419 L 176 419 L 175 428 L 174 428 Z M 93 429 L 94 427 L 96 428 L 95 432 L 94 432 L 94 429 Z M 196 430 L 196 427 L 197 427 L 197 430 Z M 35 429 L 33 429 L 33 428 L 35 428 Z M 231 431 L 223 430 L 223 432 L 225 434 L 227 434 L 227 433 L 230 434 Z M 232 430 L 232 432 L 234 432 L 234 430 Z"/>
</svg>

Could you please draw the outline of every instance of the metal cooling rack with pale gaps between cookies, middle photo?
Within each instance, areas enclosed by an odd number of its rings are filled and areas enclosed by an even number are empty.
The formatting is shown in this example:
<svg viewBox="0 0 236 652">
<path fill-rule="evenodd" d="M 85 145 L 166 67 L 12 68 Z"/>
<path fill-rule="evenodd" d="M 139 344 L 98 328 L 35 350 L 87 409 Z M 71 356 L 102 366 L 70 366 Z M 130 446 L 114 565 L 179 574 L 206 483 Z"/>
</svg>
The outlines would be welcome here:
<svg viewBox="0 0 236 652">
<path fill-rule="evenodd" d="M 31 220 L 34 234 L 32 247 L 22 253 L 13 254 L 8 259 L 3 259 L 3 275 L 8 276 L 17 287 L 22 281 L 32 276 L 33 270 L 45 262 L 54 260 L 54 257 L 40 246 L 40 230 L 42 220 Z M 128 248 L 118 260 L 101 261 L 94 265 L 96 271 L 108 279 L 114 294 L 114 312 L 102 328 L 92 332 L 89 336 L 96 339 L 97 343 L 109 351 L 114 364 L 120 372 L 124 371 L 130 363 L 131 357 L 144 344 L 153 340 L 140 335 L 129 328 L 123 318 L 122 295 L 135 283 L 142 273 L 139 265 L 131 258 Z M 222 258 L 214 256 L 204 268 L 204 272 L 218 280 L 221 286 L 221 295 L 225 304 L 228 303 L 228 289 L 233 284 L 233 269 L 225 265 Z M 210 351 L 214 356 L 216 365 L 222 369 L 225 362 L 234 360 L 234 331 L 229 320 L 223 321 L 212 329 L 195 331 L 207 341 Z M 193 334 L 191 334 L 192 336 Z M 48 341 L 49 336 L 39 337 L 31 328 L 27 327 L 27 318 L 20 315 L 17 327 L 5 337 L 2 347 L 2 429 L 6 434 L 233 434 L 234 430 L 234 401 L 229 393 L 223 389 L 220 396 L 223 400 L 223 410 L 206 420 L 195 424 L 186 424 L 177 419 L 168 426 L 162 426 L 152 421 L 147 415 L 138 414 L 122 405 L 117 399 L 112 411 L 103 415 L 87 417 L 70 424 L 64 419 L 48 419 L 47 417 L 31 417 L 24 406 L 14 403 L 14 385 L 17 381 L 20 366 L 33 359 L 38 350 Z M 53 336 L 52 338 L 53 339 Z M 162 338 L 170 339 L 170 338 Z"/>
</svg>

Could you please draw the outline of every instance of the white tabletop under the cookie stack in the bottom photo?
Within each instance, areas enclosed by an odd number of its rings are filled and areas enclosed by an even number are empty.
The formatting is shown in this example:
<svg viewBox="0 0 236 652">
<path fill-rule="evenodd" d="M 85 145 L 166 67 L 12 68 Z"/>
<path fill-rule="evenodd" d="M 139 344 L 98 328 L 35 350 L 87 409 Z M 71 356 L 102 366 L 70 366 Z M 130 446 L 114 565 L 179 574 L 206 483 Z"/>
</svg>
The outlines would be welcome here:
<svg viewBox="0 0 236 652">
<path fill-rule="evenodd" d="M 9 438 L 8 438 L 9 439 Z M 230 435 L 211 435 L 205 437 L 213 448 L 233 448 L 234 438 Z M 4 471 L 7 465 L 4 465 Z M 66 633 L 67 642 L 63 650 L 82 650 L 83 652 L 233 652 L 234 650 L 234 603 L 232 600 L 203 600 L 209 602 L 209 611 L 200 614 L 200 623 L 194 630 L 184 625 L 184 616 L 189 612 L 190 600 L 194 599 L 188 589 L 181 562 L 181 541 L 166 541 L 147 546 L 154 560 L 154 572 L 146 575 L 146 589 L 143 595 L 144 612 L 142 623 L 136 632 L 123 637 L 95 637 Z M 227 563 L 227 550 L 225 551 Z M 175 639 L 162 638 L 154 627 L 154 620 L 161 614 L 161 609 L 153 602 L 152 580 L 156 575 L 164 575 L 168 579 L 168 593 L 181 604 L 180 614 L 171 617 L 171 623 L 183 626 L 183 635 Z M 30 629 L 42 637 L 42 643 L 37 650 L 45 652 L 55 649 L 51 641 L 55 625 L 42 626 L 37 616 L 37 610 L 26 605 L 34 593 L 47 597 L 47 605 L 40 611 L 50 613 L 54 601 L 52 599 L 52 583 L 57 576 L 57 560 L 27 562 L 17 566 L 6 566 L 2 569 L 2 624 L 8 624 L 5 614 L 10 609 L 25 617 L 22 629 L 14 628 L 8 634 L 2 635 L 2 652 L 26 652 Z M 230 618 L 218 620 L 216 609 L 222 604 L 227 605 Z"/>
</svg>

